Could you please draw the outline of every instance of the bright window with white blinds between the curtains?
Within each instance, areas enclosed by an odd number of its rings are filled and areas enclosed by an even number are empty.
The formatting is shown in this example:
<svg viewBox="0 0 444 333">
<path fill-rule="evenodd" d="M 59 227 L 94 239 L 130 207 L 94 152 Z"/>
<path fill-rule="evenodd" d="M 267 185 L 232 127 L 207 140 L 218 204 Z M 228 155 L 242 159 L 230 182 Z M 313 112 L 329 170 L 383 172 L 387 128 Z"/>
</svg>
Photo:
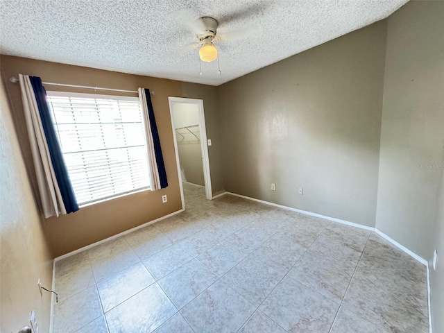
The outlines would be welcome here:
<svg viewBox="0 0 444 333">
<path fill-rule="evenodd" d="M 146 139 L 138 98 L 47 95 L 79 205 L 148 189 Z"/>
</svg>

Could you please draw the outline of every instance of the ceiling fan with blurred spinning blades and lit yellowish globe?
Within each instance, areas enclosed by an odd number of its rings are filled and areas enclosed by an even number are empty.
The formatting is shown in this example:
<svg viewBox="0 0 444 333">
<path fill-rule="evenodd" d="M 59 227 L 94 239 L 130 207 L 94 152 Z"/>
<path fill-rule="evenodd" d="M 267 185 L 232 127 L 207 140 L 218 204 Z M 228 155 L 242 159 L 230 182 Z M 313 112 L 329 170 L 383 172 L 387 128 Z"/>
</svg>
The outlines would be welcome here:
<svg viewBox="0 0 444 333">
<path fill-rule="evenodd" d="M 214 41 L 223 42 L 225 40 L 239 40 L 250 37 L 260 31 L 259 27 L 250 27 L 241 31 L 232 31 L 230 33 L 218 33 L 219 22 L 213 17 L 203 16 L 194 19 L 189 12 L 180 13 L 180 21 L 198 38 L 198 42 L 189 44 L 189 49 L 199 49 L 199 58 L 204 62 L 212 62 L 217 59 L 218 51 Z"/>
</svg>

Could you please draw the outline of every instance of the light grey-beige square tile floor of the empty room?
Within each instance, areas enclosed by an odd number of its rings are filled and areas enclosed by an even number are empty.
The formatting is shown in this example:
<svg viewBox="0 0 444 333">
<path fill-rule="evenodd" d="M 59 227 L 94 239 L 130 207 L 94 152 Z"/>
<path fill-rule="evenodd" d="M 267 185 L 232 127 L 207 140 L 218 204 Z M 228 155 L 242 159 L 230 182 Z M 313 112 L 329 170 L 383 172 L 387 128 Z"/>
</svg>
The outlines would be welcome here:
<svg viewBox="0 0 444 333">
<path fill-rule="evenodd" d="M 425 266 L 374 232 L 234 196 L 56 263 L 54 333 L 428 332 Z"/>
</svg>

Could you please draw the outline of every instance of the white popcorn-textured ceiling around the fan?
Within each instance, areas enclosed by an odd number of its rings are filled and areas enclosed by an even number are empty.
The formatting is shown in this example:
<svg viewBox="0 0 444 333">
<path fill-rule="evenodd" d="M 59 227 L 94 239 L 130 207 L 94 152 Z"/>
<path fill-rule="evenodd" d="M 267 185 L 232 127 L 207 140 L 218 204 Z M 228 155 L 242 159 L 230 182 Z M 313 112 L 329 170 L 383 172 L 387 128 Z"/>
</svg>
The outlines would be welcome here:
<svg viewBox="0 0 444 333">
<path fill-rule="evenodd" d="M 208 85 L 271 65 L 384 19 L 408 0 L 0 0 L 1 53 Z M 187 49 L 196 36 L 178 20 L 219 21 L 218 33 L 260 27 L 215 42 L 217 61 Z"/>
</svg>

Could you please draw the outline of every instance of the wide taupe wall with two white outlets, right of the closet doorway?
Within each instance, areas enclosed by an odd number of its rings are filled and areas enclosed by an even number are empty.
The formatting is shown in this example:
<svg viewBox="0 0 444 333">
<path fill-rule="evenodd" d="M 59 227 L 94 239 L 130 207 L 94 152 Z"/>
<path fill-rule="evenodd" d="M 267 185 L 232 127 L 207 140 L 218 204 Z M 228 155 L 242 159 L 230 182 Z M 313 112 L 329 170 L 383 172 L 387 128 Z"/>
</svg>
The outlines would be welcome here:
<svg viewBox="0 0 444 333">
<path fill-rule="evenodd" d="M 225 189 L 375 225 L 385 44 L 383 21 L 221 85 Z"/>
</svg>

